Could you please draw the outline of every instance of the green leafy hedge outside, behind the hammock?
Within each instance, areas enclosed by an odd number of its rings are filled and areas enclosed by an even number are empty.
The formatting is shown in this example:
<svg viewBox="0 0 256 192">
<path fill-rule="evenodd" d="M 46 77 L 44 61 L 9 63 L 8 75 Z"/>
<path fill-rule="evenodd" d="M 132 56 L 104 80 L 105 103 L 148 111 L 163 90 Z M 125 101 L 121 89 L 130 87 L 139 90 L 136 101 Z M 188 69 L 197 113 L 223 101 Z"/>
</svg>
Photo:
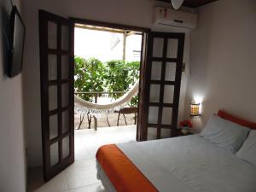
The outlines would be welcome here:
<svg viewBox="0 0 256 192">
<path fill-rule="evenodd" d="M 113 60 L 102 63 L 96 58 L 88 60 L 75 56 L 75 91 L 128 91 L 139 79 L 139 61 Z M 88 94 L 80 95 L 86 101 L 92 102 Z M 120 95 L 113 95 L 117 99 Z M 129 103 L 137 107 L 138 96 Z"/>
</svg>

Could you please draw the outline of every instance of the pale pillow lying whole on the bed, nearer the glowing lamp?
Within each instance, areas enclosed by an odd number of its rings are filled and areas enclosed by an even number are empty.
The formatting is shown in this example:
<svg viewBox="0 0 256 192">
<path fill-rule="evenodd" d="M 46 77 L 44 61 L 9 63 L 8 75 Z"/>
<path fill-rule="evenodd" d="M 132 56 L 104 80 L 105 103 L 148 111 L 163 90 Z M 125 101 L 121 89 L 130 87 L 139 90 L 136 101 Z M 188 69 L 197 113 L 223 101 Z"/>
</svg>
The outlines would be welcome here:
<svg viewBox="0 0 256 192">
<path fill-rule="evenodd" d="M 246 140 L 249 131 L 245 126 L 235 124 L 213 114 L 200 135 L 210 142 L 216 143 L 219 147 L 236 153 Z"/>
</svg>

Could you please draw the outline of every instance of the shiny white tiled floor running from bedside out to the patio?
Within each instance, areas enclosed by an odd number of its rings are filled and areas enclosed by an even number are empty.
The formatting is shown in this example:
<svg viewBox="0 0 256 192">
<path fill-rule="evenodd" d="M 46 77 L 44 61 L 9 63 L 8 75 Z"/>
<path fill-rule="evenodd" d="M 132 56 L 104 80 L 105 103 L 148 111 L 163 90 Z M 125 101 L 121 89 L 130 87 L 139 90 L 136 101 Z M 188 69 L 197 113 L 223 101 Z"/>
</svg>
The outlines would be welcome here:
<svg viewBox="0 0 256 192">
<path fill-rule="evenodd" d="M 124 143 L 135 140 L 136 126 L 119 126 L 94 130 L 75 131 L 75 162 L 66 170 L 43 182 L 42 168 L 28 173 L 28 192 L 104 192 L 96 179 L 97 148 L 108 143 Z"/>
</svg>

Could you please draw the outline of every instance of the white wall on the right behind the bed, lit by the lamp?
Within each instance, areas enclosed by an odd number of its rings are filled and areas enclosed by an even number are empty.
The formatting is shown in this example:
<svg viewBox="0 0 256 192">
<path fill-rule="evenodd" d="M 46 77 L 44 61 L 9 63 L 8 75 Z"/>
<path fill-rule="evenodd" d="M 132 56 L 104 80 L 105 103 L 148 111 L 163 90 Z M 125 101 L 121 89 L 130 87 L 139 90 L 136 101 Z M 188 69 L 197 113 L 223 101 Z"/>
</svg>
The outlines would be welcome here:
<svg viewBox="0 0 256 192">
<path fill-rule="evenodd" d="M 202 124 L 218 108 L 256 121 L 256 1 L 221 0 L 198 14 L 186 106 L 202 100 Z"/>
</svg>

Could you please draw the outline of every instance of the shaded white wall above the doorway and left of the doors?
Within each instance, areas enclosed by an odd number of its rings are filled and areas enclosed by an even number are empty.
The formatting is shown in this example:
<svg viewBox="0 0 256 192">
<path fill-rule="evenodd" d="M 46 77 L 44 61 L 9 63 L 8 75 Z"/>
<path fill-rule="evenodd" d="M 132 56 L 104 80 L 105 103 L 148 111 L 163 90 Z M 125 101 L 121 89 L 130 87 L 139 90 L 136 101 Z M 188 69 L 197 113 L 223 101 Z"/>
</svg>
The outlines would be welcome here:
<svg viewBox="0 0 256 192">
<path fill-rule="evenodd" d="M 23 84 L 28 166 L 42 165 L 38 9 L 65 17 L 151 27 L 153 8 L 153 0 L 24 0 L 27 41 Z"/>
</svg>

